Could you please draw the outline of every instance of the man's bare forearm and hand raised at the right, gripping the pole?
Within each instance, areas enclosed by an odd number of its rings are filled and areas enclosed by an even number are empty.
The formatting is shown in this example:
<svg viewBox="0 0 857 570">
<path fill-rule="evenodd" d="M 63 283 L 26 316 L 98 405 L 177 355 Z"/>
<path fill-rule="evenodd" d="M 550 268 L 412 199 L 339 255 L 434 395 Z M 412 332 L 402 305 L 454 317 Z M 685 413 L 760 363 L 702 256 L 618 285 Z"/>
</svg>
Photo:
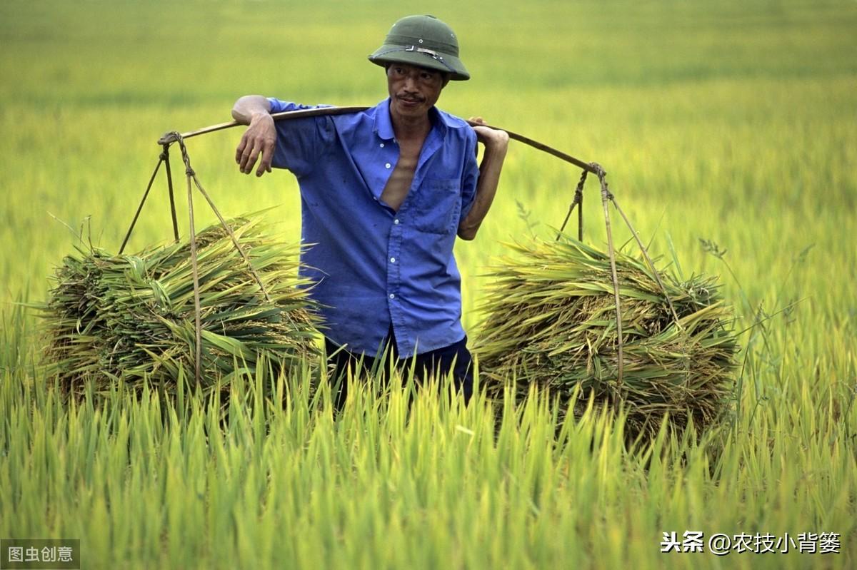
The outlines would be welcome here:
<svg viewBox="0 0 857 570">
<path fill-rule="evenodd" d="M 483 122 L 482 117 L 471 119 L 475 122 Z M 467 217 L 458 224 L 458 237 L 462 240 L 472 240 L 482 224 L 482 220 L 488 214 L 494 194 L 497 193 L 497 185 L 500 183 L 500 170 L 503 168 L 503 160 L 506 158 L 506 150 L 509 146 L 509 135 L 506 131 L 500 131 L 488 127 L 474 127 L 476 140 L 485 145 L 482 154 L 482 163 L 479 165 L 479 180 L 476 182 L 476 198 L 467 213 Z"/>
</svg>

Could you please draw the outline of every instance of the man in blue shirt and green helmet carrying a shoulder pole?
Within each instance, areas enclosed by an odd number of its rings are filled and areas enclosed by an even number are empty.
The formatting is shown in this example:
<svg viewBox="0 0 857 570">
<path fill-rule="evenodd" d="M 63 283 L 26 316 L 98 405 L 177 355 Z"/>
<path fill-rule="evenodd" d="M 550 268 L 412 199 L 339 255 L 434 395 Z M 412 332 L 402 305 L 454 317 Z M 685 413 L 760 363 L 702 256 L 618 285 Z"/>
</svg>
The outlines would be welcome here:
<svg viewBox="0 0 857 570">
<path fill-rule="evenodd" d="M 273 166 L 297 176 L 302 239 L 315 244 L 303 274 L 316 282 L 337 375 L 389 347 L 403 365 L 416 354 L 417 377 L 452 370 L 466 402 L 473 380 L 452 246 L 456 235 L 472 240 L 488 213 L 508 135 L 434 107 L 448 81 L 470 79 L 458 39 L 434 16 L 397 21 L 369 61 L 385 68 L 389 98 L 361 113 L 275 123 L 271 113 L 309 107 L 239 98 L 232 116 L 249 127 L 236 161 L 245 174 Z"/>
</svg>

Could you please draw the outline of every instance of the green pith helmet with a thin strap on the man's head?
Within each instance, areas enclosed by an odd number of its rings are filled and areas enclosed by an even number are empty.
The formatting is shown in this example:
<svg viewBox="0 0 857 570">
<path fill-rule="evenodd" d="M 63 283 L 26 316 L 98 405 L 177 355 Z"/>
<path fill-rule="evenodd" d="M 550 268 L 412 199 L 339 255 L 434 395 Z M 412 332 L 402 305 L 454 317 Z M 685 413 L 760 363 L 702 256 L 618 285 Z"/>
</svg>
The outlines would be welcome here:
<svg viewBox="0 0 857 570">
<path fill-rule="evenodd" d="M 381 67 L 407 63 L 445 72 L 452 80 L 470 79 L 458 59 L 458 38 L 451 27 L 433 15 L 405 16 L 397 21 L 369 61 Z"/>
</svg>

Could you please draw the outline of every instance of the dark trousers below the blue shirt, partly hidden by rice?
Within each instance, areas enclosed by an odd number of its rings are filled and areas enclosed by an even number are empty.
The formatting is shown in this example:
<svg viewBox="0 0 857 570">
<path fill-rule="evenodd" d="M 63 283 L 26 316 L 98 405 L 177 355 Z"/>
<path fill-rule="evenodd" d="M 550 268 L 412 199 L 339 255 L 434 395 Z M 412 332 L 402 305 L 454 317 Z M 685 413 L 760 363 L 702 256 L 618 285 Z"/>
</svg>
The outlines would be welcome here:
<svg viewBox="0 0 857 570">
<path fill-rule="evenodd" d="M 385 382 L 387 381 L 389 360 L 384 360 L 381 356 L 371 357 L 350 353 L 334 344 L 327 337 L 325 337 L 325 347 L 327 348 L 328 362 L 333 364 L 331 383 L 336 386 L 336 383 L 339 382 L 339 392 L 334 395 L 336 409 L 341 410 L 348 397 L 346 371 L 349 368 L 356 374 L 361 366 L 366 373 L 375 370 L 376 366 L 380 366 L 382 378 Z M 473 395 L 473 359 L 467 349 L 467 336 L 448 347 L 417 354 L 416 358 L 399 358 L 399 350 L 396 347 L 396 338 L 393 335 L 393 325 L 391 324 L 390 330 L 387 332 L 387 339 L 382 344 L 382 350 L 385 347 L 387 348 L 387 359 L 390 359 L 392 355 L 393 362 L 399 370 L 405 374 L 413 370 L 417 385 L 423 383 L 426 377 L 431 377 L 434 374 L 446 376 L 452 371 L 452 381 L 455 383 L 456 391 L 464 396 L 464 405 L 466 406 L 470 401 L 470 396 Z"/>
</svg>

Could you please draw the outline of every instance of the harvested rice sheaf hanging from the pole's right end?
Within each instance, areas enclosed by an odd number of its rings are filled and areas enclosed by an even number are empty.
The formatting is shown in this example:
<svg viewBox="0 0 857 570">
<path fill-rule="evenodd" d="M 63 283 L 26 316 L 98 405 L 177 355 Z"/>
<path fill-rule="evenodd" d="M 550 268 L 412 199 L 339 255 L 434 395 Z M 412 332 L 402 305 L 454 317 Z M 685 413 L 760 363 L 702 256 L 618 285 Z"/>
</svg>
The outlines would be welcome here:
<svg viewBox="0 0 857 570">
<path fill-rule="evenodd" d="M 716 278 L 682 282 L 658 270 L 679 326 L 644 259 L 616 252 L 624 341 L 619 383 L 608 254 L 567 236 L 512 249 L 518 255 L 491 274 L 474 347 L 490 395 L 512 383 L 520 400 L 536 384 L 565 403 L 579 385 L 572 413 L 581 413 L 590 395 L 596 405 L 624 401 L 631 433 L 656 430 L 667 413 L 674 427 L 690 417 L 705 427 L 721 416 L 738 346 Z"/>
</svg>

